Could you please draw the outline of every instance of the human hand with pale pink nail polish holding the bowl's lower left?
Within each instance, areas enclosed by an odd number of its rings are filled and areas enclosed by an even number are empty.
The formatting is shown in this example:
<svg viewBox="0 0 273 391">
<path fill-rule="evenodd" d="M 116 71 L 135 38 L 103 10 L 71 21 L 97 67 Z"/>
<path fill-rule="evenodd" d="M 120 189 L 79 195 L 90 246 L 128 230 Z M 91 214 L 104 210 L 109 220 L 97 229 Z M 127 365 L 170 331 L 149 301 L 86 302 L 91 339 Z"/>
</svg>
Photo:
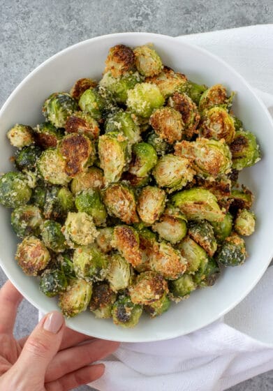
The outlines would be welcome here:
<svg viewBox="0 0 273 391">
<path fill-rule="evenodd" d="M 21 300 L 22 295 L 6 282 L 0 290 L 0 390 L 73 390 L 103 375 L 103 364 L 89 364 L 115 351 L 117 342 L 68 329 L 57 311 L 45 315 L 29 337 L 17 341 L 13 327 Z"/>
</svg>

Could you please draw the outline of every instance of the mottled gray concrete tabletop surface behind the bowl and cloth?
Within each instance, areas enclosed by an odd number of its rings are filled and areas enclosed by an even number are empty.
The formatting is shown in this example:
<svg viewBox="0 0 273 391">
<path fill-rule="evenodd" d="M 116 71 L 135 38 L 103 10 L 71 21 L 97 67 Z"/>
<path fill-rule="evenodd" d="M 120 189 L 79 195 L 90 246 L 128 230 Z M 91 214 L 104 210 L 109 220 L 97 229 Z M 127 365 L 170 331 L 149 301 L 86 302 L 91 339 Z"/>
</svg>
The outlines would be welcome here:
<svg viewBox="0 0 273 391">
<path fill-rule="evenodd" d="M 38 64 L 80 40 L 123 31 L 178 36 L 271 22 L 271 0 L 0 0 L 0 106 Z M 0 270 L 0 286 L 4 281 Z M 36 309 L 24 301 L 16 336 L 29 334 L 36 322 Z M 273 390 L 273 371 L 230 388 L 246 390 Z"/>
</svg>

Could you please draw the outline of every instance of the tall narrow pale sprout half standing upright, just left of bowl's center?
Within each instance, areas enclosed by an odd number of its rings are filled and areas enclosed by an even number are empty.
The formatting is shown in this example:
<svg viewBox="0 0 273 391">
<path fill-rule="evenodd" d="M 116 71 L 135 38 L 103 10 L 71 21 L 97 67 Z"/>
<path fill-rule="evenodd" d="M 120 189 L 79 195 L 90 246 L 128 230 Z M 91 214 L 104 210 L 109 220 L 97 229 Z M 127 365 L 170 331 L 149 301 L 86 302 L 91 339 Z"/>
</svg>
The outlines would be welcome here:
<svg viewBox="0 0 273 391">
<path fill-rule="evenodd" d="M 105 183 L 121 178 L 128 158 L 127 141 L 124 135 L 110 132 L 98 138 L 98 156 L 104 171 Z"/>
</svg>

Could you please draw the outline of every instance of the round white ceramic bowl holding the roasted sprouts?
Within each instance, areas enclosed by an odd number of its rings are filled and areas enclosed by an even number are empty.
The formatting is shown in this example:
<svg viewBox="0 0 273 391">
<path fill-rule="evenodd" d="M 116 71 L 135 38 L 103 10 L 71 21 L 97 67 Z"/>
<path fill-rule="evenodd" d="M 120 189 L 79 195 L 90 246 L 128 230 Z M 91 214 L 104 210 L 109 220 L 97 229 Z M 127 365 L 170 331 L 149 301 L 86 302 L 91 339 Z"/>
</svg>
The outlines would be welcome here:
<svg viewBox="0 0 273 391">
<path fill-rule="evenodd" d="M 233 105 L 235 114 L 244 126 L 257 135 L 263 159 L 242 174 L 242 182 L 256 195 L 256 233 L 246 239 L 249 258 L 241 267 L 224 270 L 212 288 L 191 294 L 189 300 L 172 304 L 170 310 L 156 319 L 142 316 L 132 330 L 99 320 L 86 311 L 67 320 L 67 325 L 84 334 L 117 341 L 156 341 L 170 339 L 198 330 L 233 309 L 256 285 L 273 255 L 273 126 L 272 119 L 260 99 L 244 79 L 209 52 L 179 42 L 175 38 L 146 33 L 112 34 L 85 40 L 54 55 L 31 72 L 13 91 L 0 112 L 1 172 L 12 170 L 8 158 L 13 154 L 6 131 L 15 123 L 35 125 L 43 121 L 43 101 L 54 91 L 69 91 L 79 78 L 100 79 L 109 47 L 118 43 L 129 46 L 154 43 L 163 63 L 189 79 L 212 85 L 224 84 L 229 91 L 237 91 Z M 263 71 L 263 70 L 261 70 Z M 42 311 L 58 309 L 57 300 L 40 293 L 38 281 L 23 274 L 14 260 L 17 240 L 10 228 L 10 211 L 0 207 L 0 258 L 8 278 L 24 297 Z"/>
</svg>

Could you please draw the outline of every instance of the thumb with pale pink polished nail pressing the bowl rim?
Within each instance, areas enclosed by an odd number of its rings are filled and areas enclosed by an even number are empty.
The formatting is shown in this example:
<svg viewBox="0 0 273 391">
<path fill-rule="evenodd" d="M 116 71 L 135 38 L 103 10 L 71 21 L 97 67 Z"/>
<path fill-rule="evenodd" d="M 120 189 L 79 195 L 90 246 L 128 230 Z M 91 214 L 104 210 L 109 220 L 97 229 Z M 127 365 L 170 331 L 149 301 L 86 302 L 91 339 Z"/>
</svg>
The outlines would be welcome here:
<svg viewBox="0 0 273 391">
<path fill-rule="evenodd" d="M 59 351 L 64 334 L 64 316 L 57 311 L 47 313 L 30 334 L 15 366 L 24 374 L 45 376 L 48 364 Z"/>
</svg>

